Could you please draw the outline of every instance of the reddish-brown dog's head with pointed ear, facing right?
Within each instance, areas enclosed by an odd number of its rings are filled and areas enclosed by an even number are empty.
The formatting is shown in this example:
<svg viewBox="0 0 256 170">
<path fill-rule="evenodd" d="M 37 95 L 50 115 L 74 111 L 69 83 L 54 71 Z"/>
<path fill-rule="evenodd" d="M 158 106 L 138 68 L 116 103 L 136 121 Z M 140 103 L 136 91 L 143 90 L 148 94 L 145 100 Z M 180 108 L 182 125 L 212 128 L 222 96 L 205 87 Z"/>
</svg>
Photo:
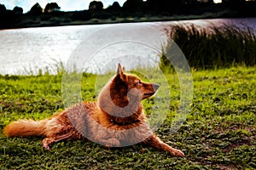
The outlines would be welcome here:
<svg viewBox="0 0 256 170">
<path fill-rule="evenodd" d="M 141 101 L 154 95 L 159 85 L 143 82 L 133 74 L 125 73 L 125 68 L 118 65 L 116 75 L 102 89 L 98 103 L 106 112 L 117 113 L 138 111 L 142 108 Z M 126 115 L 127 115 L 126 114 Z"/>
</svg>

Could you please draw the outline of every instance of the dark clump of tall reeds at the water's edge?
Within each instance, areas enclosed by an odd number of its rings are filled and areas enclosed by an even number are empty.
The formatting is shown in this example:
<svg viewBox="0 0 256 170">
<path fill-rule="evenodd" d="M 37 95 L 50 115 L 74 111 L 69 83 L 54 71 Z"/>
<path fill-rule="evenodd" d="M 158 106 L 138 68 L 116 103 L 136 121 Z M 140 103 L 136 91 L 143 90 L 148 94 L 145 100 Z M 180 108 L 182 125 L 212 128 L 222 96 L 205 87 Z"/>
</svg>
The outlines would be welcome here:
<svg viewBox="0 0 256 170">
<path fill-rule="evenodd" d="M 202 28 L 195 25 L 166 28 L 169 40 L 163 48 L 171 48 L 172 40 L 183 51 L 189 65 L 196 68 L 227 67 L 256 64 L 256 36 L 251 28 L 222 25 Z M 170 65 L 161 56 L 160 66 Z"/>
</svg>

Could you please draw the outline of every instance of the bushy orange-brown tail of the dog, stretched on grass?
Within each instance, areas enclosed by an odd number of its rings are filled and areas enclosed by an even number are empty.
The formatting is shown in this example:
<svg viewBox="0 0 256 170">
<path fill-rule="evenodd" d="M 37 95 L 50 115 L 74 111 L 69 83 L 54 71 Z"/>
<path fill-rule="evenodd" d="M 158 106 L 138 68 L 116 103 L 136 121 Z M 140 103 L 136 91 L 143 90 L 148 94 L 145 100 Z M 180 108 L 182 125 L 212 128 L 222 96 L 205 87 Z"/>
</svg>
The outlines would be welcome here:
<svg viewBox="0 0 256 170">
<path fill-rule="evenodd" d="M 43 136 L 46 120 L 19 120 L 11 122 L 3 128 L 3 133 L 8 137 Z"/>
</svg>

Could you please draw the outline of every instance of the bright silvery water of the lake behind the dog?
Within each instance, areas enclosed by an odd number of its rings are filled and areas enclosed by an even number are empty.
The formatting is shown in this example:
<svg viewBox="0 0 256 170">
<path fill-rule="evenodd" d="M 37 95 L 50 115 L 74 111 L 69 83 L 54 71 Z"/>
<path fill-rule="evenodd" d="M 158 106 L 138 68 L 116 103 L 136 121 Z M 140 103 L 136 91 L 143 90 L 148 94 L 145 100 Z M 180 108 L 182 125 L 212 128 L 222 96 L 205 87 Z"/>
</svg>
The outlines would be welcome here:
<svg viewBox="0 0 256 170">
<path fill-rule="evenodd" d="M 163 28 L 190 23 L 203 27 L 233 23 L 256 30 L 256 18 L 3 30 L 0 74 L 38 74 L 39 70 L 55 74 L 61 63 L 94 73 L 112 70 L 117 62 L 128 69 L 158 65 L 158 54 L 166 42 Z"/>
</svg>

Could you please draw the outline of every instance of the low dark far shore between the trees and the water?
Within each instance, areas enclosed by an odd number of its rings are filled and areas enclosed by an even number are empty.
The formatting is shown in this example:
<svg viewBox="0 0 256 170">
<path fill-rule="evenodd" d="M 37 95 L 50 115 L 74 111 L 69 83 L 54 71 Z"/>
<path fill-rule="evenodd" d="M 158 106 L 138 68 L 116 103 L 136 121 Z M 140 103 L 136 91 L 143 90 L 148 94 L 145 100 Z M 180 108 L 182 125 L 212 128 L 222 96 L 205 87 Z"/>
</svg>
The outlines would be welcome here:
<svg viewBox="0 0 256 170">
<path fill-rule="evenodd" d="M 96 24 L 115 24 L 115 23 L 132 23 L 132 22 L 152 22 L 152 21 L 172 21 L 172 20 L 198 20 L 198 19 L 216 19 L 216 18 L 241 18 L 244 16 L 230 14 L 223 11 L 218 13 L 189 14 L 189 15 L 145 15 L 137 17 L 109 17 L 109 18 L 90 18 L 83 20 L 73 19 L 76 13 L 82 12 L 56 12 L 53 14 L 12 14 L 3 20 L 0 30 L 16 29 L 28 27 L 47 27 L 47 26 L 78 26 L 78 25 L 96 25 Z M 82 18 L 82 17 L 81 17 Z"/>
</svg>

